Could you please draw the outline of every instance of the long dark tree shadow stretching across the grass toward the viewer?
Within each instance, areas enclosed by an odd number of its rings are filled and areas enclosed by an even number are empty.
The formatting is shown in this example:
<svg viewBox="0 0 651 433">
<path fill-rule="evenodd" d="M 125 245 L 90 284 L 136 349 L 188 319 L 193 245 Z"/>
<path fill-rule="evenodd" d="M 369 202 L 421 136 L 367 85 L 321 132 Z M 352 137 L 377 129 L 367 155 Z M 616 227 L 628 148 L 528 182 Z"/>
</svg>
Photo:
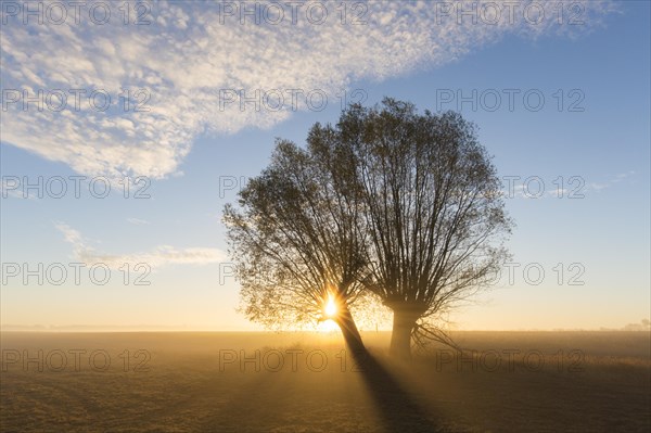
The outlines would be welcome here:
<svg viewBox="0 0 651 433">
<path fill-rule="evenodd" d="M 368 351 L 353 354 L 369 395 L 388 432 L 445 432 L 396 379 L 387 367 Z"/>
</svg>

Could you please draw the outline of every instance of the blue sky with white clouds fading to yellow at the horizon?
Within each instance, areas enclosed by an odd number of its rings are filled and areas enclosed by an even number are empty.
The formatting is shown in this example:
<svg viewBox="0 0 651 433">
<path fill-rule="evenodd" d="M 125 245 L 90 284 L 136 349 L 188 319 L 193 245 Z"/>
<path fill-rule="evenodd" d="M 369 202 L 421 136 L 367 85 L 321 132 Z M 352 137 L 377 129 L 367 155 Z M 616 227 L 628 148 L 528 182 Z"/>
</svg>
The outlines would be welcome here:
<svg viewBox="0 0 651 433">
<path fill-rule="evenodd" d="M 475 123 L 516 222 L 455 329 L 650 318 L 649 2 L 73 3 L 1 4 L 3 329 L 259 329 L 225 204 L 384 97 Z"/>
</svg>

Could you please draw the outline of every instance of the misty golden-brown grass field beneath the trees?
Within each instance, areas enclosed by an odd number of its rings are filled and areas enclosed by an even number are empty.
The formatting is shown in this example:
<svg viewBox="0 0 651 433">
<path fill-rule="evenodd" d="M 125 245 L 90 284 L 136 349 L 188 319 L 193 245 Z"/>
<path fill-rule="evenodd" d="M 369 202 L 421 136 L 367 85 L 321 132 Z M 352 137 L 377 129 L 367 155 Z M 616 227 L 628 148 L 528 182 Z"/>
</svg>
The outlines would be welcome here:
<svg viewBox="0 0 651 433">
<path fill-rule="evenodd" d="M 2 432 L 648 432 L 646 332 L 457 332 L 408 365 L 365 333 L 1 335 Z"/>
</svg>

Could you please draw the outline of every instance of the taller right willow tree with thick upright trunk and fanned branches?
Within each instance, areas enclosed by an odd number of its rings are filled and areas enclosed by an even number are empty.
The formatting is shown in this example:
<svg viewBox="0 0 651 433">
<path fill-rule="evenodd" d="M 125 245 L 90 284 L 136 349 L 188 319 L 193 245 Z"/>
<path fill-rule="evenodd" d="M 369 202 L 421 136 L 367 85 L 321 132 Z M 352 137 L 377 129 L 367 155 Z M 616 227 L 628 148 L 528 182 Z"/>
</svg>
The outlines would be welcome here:
<svg viewBox="0 0 651 433">
<path fill-rule="evenodd" d="M 320 133 L 354 155 L 370 240 L 363 283 L 393 310 L 392 354 L 409 357 L 412 336 L 450 343 L 434 320 L 486 286 L 512 226 L 473 125 L 385 99 L 350 106 Z"/>
</svg>

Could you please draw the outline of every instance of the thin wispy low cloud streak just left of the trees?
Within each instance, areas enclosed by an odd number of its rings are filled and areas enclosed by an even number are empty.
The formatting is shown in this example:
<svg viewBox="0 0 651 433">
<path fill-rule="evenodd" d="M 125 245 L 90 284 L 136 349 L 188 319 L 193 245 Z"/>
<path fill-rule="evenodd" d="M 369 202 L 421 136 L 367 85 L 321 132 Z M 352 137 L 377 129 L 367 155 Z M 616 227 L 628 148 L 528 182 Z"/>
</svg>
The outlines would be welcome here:
<svg viewBox="0 0 651 433">
<path fill-rule="evenodd" d="M 119 269 L 125 263 L 136 266 L 146 264 L 152 269 L 168 265 L 207 265 L 226 259 L 226 254 L 218 249 L 188 247 L 176 249 L 170 245 L 159 245 L 149 252 L 132 254 L 105 254 L 88 245 L 81 233 L 64 222 L 56 222 L 56 229 L 64 240 L 73 245 L 76 259 L 85 264 L 104 264 L 111 269 Z"/>
</svg>

